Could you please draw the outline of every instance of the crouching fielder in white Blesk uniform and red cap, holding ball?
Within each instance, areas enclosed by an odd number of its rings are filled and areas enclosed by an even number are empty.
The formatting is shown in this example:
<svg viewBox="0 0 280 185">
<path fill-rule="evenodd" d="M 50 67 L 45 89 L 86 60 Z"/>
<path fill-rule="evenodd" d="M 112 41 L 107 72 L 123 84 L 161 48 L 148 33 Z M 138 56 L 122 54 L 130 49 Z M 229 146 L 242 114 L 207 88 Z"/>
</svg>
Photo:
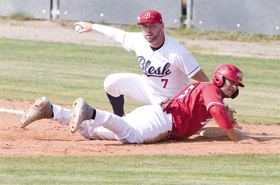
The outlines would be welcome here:
<svg viewBox="0 0 280 185">
<path fill-rule="evenodd" d="M 95 30 L 137 55 L 142 75 L 114 73 L 104 80 L 113 112 L 119 116 L 124 115 L 123 95 L 141 104 L 157 104 L 185 87 L 189 78 L 209 81 L 187 48 L 163 32 L 164 24 L 158 11 L 143 11 L 137 24 L 141 25 L 142 33 L 89 22 L 74 24 L 81 26 L 78 33 Z"/>
</svg>

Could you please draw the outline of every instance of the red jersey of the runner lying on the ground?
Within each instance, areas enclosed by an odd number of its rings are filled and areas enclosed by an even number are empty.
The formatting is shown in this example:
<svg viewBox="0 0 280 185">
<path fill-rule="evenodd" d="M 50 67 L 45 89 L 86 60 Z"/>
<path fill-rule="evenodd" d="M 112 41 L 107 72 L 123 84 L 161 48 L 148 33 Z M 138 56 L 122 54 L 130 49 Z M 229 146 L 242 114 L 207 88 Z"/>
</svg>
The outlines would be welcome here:
<svg viewBox="0 0 280 185">
<path fill-rule="evenodd" d="M 166 113 L 172 114 L 173 127 L 170 139 L 184 139 L 196 133 L 213 116 L 208 109 L 213 105 L 224 108 L 220 89 L 213 82 L 197 82 L 187 85 L 172 97 L 173 102 Z M 232 127 L 230 119 L 224 120 L 225 127 Z"/>
</svg>

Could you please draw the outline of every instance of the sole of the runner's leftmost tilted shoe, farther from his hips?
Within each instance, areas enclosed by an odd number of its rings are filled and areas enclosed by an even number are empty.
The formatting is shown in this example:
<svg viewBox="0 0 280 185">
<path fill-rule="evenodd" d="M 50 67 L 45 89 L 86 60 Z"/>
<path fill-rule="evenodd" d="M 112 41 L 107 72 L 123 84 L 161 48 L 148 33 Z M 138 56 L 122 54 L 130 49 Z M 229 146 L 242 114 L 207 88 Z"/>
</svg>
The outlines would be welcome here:
<svg viewBox="0 0 280 185">
<path fill-rule="evenodd" d="M 39 111 L 39 109 L 42 109 L 46 104 L 47 104 L 48 100 L 46 97 L 39 97 L 37 98 L 33 105 L 31 107 L 29 107 L 21 116 L 20 120 L 19 120 L 19 126 L 20 128 L 24 128 L 25 126 L 27 126 L 28 124 L 30 124 L 33 121 L 36 121 L 38 119 L 34 119 L 32 120 L 32 117 L 34 117 L 34 114 L 37 114 L 37 118 L 39 117 L 43 117 L 45 112 L 43 111 Z"/>
</svg>

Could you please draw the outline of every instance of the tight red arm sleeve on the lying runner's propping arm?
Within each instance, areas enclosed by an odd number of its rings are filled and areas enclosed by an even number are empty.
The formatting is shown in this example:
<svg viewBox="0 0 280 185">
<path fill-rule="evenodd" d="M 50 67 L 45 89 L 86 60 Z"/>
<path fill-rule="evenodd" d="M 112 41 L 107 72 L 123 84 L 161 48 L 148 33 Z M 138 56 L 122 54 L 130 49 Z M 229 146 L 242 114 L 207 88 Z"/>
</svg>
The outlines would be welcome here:
<svg viewBox="0 0 280 185">
<path fill-rule="evenodd" d="M 223 105 L 212 105 L 208 109 L 208 111 L 216 120 L 217 124 L 222 129 L 222 131 L 233 128 L 229 116 L 227 114 L 227 111 Z"/>
</svg>

